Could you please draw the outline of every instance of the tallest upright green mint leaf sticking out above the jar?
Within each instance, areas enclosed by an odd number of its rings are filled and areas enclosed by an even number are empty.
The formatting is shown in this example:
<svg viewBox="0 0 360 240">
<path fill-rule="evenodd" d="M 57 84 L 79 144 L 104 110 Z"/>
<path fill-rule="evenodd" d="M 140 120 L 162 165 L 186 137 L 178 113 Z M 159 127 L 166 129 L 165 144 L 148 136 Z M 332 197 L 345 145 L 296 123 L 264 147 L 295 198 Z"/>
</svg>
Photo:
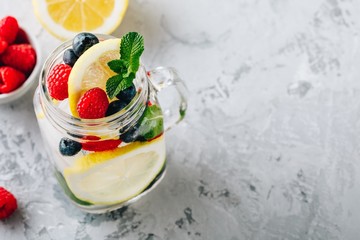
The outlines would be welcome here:
<svg viewBox="0 0 360 240">
<path fill-rule="evenodd" d="M 125 34 L 120 43 L 120 59 L 129 63 L 128 72 L 136 73 L 144 51 L 144 38 L 137 32 Z"/>
</svg>

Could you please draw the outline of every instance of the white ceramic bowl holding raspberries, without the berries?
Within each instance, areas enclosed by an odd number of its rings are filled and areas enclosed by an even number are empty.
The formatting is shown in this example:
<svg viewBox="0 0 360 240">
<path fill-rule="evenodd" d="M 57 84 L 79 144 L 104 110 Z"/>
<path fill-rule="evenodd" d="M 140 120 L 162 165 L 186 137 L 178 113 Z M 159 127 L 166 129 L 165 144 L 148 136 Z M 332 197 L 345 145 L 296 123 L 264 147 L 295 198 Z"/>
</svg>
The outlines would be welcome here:
<svg viewBox="0 0 360 240">
<path fill-rule="evenodd" d="M 32 35 L 28 30 L 24 29 L 26 32 L 28 39 L 30 41 L 31 46 L 35 49 L 36 52 L 36 64 L 31 72 L 30 76 L 26 79 L 26 81 L 21 85 L 18 89 L 16 89 L 13 92 L 10 93 L 2 93 L 0 94 L 0 104 L 9 103 L 11 101 L 14 101 L 21 96 L 23 96 L 31 87 L 34 85 L 34 83 L 38 82 L 39 79 L 39 71 L 41 68 L 41 50 L 38 44 L 37 39 L 34 35 Z"/>
</svg>

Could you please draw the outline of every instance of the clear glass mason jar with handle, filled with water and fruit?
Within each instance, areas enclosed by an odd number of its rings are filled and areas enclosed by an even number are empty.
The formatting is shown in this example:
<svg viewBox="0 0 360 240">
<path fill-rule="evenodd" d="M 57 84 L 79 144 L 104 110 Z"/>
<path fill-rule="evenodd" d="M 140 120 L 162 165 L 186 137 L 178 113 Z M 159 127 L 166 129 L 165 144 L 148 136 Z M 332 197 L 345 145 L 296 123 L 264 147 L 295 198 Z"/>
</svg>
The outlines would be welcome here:
<svg viewBox="0 0 360 240">
<path fill-rule="evenodd" d="M 100 41 L 113 38 L 97 37 Z M 134 80 L 137 94 L 123 110 L 101 119 L 73 117 L 67 100 L 53 100 L 46 86 L 50 70 L 62 63 L 63 53 L 70 47 L 71 41 L 64 42 L 44 63 L 34 108 L 48 157 L 65 194 L 80 209 L 103 213 L 136 201 L 163 178 L 163 132 L 183 119 L 186 88 L 174 69 L 146 71 L 141 65 Z M 149 112 L 151 117 L 144 117 Z M 68 139 L 81 145 L 73 156 L 64 156 L 60 150 Z M 117 147 L 104 150 L 109 144 Z"/>
</svg>

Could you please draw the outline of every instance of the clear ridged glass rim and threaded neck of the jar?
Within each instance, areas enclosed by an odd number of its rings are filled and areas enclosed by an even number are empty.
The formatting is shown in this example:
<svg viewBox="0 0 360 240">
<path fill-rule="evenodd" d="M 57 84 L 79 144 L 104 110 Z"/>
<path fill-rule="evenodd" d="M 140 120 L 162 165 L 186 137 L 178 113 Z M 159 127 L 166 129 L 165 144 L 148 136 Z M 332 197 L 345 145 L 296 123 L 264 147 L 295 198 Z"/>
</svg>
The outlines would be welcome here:
<svg viewBox="0 0 360 240">
<path fill-rule="evenodd" d="M 106 34 L 95 34 L 99 40 L 106 40 L 115 38 L 111 35 Z M 145 67 L 141 64 L 134 82 L 135 85 L 141 85 L 141 90 L 138 91 L 138 94 L 131 100 L 131 102 L 121 111 L 112 114 L 110 116 L 99 118 L 99 119 L 81 119 L 74 117 L 73 115 L 63 111 L 59 107 L 54 105 L 52 98 L 48 92 L 46 79 L 50 72 L 50 69 L 57 63 L 60 63 L 58 60 L 61 57 L 63 52 L 71 47 L 72 40 L 68 40 L 60 44 L 55 48 L 45 60 L 45 63 L 41 69 L 41 74 L 39 78 L 39 91 L 41 106 L 44 111 L 45 116 L 50 120 L 53 125 L 59 130 L 69 133 L 71 135 L 83 136 L 91 131 L 92 134 L 96 135 L 106 135 L 110 136 L 111 132 L 114 130 L 118 131 L 119 128 L 127 128 L 132 125 L 133 122 L 136 122 L 141 116 L 139 112 L 144 111 L 145 105 L 148 100 L 149 95 L 149 82 L 146 75 Z M 106 130 L 107 129 L 107 130 Z M 118 132 L 117 132 L 118 134 Z"/>
</svg>

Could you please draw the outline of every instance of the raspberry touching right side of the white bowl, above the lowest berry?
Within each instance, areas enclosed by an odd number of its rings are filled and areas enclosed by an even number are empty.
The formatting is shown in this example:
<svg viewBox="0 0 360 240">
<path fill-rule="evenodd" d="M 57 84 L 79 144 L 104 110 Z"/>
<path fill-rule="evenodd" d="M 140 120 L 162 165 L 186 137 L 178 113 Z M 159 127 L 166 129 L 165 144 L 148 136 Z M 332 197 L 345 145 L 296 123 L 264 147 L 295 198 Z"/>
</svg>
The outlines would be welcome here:
<svg viewBox="0 0 360 240">
<path fill-rule="evenodd" d="M 4 65 L 29 74 L 36 63 L 36 52 L 30 44 L 14 44 L 9 46 L 0 58 Z"/>
</svg>

